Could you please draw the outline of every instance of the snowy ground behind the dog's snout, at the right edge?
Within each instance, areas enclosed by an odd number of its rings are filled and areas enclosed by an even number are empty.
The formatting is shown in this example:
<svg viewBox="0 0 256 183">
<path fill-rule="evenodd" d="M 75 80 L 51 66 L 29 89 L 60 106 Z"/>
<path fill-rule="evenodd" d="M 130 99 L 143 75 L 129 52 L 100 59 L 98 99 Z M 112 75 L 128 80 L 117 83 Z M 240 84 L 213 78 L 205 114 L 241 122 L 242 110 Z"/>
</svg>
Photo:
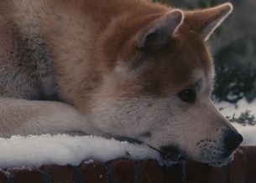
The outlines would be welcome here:
<svg viewBox="0 0 256 183">
<path fill-rule="evenodd" d="M 219 108 L 222 108 L 221 113 L 225 116 L 239 116 L 242 112 L 249 110 L 250 114 L 256 117 L 256 100 L 248 104 L 245 100 L 240 100 L 237 106 L 229 103 L 217 104 Z M 256 145 L 256 125 L 239 125 L 232 123 L 232 125 L 243 135 L 243 145 Z"/>
</svg>

